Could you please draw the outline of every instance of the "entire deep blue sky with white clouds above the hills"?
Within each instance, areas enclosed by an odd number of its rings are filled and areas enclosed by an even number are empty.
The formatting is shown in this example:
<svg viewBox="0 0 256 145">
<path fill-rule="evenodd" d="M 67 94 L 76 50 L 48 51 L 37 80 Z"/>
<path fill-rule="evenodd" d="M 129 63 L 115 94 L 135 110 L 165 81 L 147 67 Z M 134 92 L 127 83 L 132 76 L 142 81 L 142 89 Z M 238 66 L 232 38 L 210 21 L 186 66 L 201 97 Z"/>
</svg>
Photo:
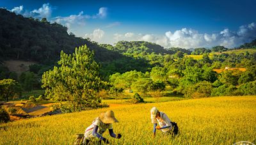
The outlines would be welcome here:
<svg viewBox="0 0 256 145">
<path fill-rule="evenodd" d="M 166 48 L 239 46 L 256 38 L 256 1 L 2 0 L 25 17 L 47 17 L 99 43 L 150 41 Z"/>
</svg>

